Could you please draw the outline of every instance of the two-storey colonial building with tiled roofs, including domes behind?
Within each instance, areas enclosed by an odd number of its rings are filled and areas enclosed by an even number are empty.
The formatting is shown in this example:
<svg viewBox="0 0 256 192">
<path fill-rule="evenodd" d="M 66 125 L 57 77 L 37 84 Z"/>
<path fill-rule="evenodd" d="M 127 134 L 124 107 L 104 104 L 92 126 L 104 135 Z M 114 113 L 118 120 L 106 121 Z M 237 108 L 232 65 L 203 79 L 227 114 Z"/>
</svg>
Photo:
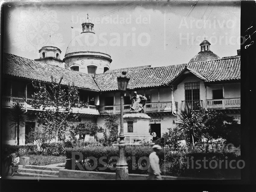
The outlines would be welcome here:
<svg viewBox="0 0 256 192">
<path fill-rule="evenodd" d="M 61 50 L 52 46 L 42 47 L 40 59 L 36 60 L 4 54 L 2 128 L 5 142 L 16 144 L 16 131 L 9 125 L 7 112 L 14 102 L 19 101 L 30 114 L 20 129 L 20 145 L 26 144 L 25 135 L 37 126 L 35 109 L 29 105 L 33 94 L 32 81 L 50 83 L 51 76 L 56 80 L 63 76 L 63 86 L 74 83 L 79 90 L 79 99 L 90 103 L 88 108 L 73 108 L 72 112 L 79 112 L 80 122 L 93 121 L 99 127 L 104 127 L 106 114 L 120 114 L 117 77 L 122 71 L 126 71 L 130 78 L 124 97 L 124 113 L 130 112 L 130 98 L 134 91 L 146 96 L 144 112 L 151 118 L 148 131 L 156 132 L 157 137 L 176 126 L 177 114 L 185 103 L 191 103 L 195 108 L 201 105 L 205 109 L 223 110 L 240 124 L 239 51 L 236 56 L 220 58 L 210 51 L 210 43 L 204 40 L 200 52 L 185 64 L 111 70 L 112 59 L 106 47 L 81 44 L 84 36 L 95 35 L 93 26 L 87 17 L 81 34 L 68 45 L 63 59 L 65 64 L 59 58 Z M 124 132 L 129 135 L 128 130 Z M 128 142 L 135 140 L 143 138 L 130 137 Z"/>
</svg>

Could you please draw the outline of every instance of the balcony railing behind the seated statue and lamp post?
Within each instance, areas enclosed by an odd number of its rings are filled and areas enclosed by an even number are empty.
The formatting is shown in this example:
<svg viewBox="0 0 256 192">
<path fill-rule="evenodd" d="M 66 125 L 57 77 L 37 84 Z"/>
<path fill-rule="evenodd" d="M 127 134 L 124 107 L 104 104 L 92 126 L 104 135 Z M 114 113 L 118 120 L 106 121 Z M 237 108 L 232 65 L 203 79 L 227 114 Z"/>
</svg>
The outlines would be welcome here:
<svg viewBox="0 0 256 192">
<path fill-rule="evenodd" d="M 123 112 L 130 112 L 131 105 L 123 105 Z M 120 113 L 121 106 L 100 106 L 100 114 L 108 113 Z M 175 110 L 178 110 L 178 102 L 175 102 Z M 146 103 L 144 106 L 144 112 L 171 112 L 172 111 L 172 102 L 158 102 L 158 103 Z"/>
</svg>

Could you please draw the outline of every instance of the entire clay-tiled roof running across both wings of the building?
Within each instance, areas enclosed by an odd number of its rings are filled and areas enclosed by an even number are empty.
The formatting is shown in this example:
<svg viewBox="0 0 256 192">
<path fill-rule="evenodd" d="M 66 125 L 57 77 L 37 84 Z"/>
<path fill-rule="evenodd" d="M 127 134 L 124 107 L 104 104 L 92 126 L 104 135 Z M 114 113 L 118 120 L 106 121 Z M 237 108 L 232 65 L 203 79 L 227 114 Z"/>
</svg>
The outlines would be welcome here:
<svg viewBox="0 0 256 192">
<path fill-rule="evenodd" d="M 141 89 L 167 85 L 185 69 L 185 66 L 205 82 L 240 80 L 239 56 L 164 67 L 124 68 L 118 72 L 96 74 L 93 78 L 78 71 L 66 70 L 12 54 L 4 54 L 3 73 L 45 82 L 51 82 L 51 76 L 57 80 L 63 76 L 63 85 L 74 82 L 78 88 L 112 91 L 118 89 L 117 77 L 121 75 L 121 71 L 126 69 L 126 76 L 130 78 L 128 89 Z"/>
</svg>

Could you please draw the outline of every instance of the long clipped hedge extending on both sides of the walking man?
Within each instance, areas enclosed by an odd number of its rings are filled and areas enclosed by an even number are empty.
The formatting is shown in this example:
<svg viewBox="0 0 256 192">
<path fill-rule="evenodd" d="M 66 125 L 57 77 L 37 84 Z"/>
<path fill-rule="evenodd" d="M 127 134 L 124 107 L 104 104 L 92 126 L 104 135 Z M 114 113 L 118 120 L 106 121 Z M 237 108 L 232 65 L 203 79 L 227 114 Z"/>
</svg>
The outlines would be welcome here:
<svg viewBox="0 0 256 192">
<path fill-rule="evenodd" d="M 115 172 L 115 164 L 116 159 L 111 159 L 110 157 L 118 157 L 119 149 L 118 147 L 84 147 L 84 148 L 68 148 L 66 149 L 66 157 L 68 159 L 72 158 L 72 152 L 79 152 L 83 155 L 82 160 L 79 162 L 82 166 L 82 170 L 86 171 L 104 171 L 104 172 Z M 151 147 L 146 146 L 126 146 L 125 148 L 125 156 L 131 157 L 130 160 L 127 161 L 128 164 L 128 172 L 134 174 L 147 174 L 147 161 L 142 160 L 142 157 L 149 157 L 152 152 Z M 93 160 L 88 160 L 88 157 L 96 158 L 97 164 L 93 167 Z M 106 163 L 106 168 L 100 158 L 106 157 L 103 161 Z M 204 153 L 204 152 L 178 152 L 171 153 L 170 151 L 166 151 L 166 159 L 164 161 L 164 151 L 162 150 L 159 154 L 160 159 L 160 169 L 162 174 L 171 175 L 171 176 L 182 176 L 182 177 L 200 177 L 200 178 L 240 178 L 240 170 L 237 167 L 237 162 L 240 160 L 240 156 L 236 155 L 233 152 L 228 153 Z M 75 155 L 76 161 L 78 160 L 79 155 Z M 141 159 L 140 159 L 141 158 Z M 206 161 L 204 166 L 204 160 Z M 138 164 L 138 160 L 140 160 Z M 141 161 L 142 160 L 142 161 Z M 198 164 L 201 164 L 201 168 L 199 168 L 196 161 L 199 160 Z M 215 160 L 217 164 L 215 165 Z M 222 166 L 220 168 L 220 160 L 223 160 Z M 229 167 L 229 163 L 231 160 L 232 166 L 236 167 L 232 169 Z M 183 163 L 182 163 L 183 161 Z M 188 161 L 188 166 L 187 162 Z M 193 165 L 192 165 L 193 162 Z M 209 164 L 210 163 L 210 164 Z M 227 168 L 226 168 L 227 163 Z M 215 168 L 216 166 L 216 168 Z M 239 163 L 239 167 L 241 168 L 242 162 Z M 144 170 L 143 170 L 144 168 Z M 75 166 L 76 170 L 81 170 L 77 165 Z"/>
</svg>

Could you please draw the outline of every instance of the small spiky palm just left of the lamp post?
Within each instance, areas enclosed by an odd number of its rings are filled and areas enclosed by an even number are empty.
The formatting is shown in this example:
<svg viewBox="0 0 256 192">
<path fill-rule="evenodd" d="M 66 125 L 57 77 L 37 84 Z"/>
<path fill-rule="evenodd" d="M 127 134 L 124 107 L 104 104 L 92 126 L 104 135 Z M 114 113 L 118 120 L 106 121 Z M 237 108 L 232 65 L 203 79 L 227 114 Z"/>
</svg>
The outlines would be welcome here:
<svg viewBox="0 0 256 192">
<path fill-rule="evenodd" d="M 105 142 L 108 142 L 109 145 L 111 145 L 111 142 L 117 142 L 118 141 L 118 116 L 113 113 L 109 113 L 105 118 L 104 123 L 104 140 Z"/>
</svg>

